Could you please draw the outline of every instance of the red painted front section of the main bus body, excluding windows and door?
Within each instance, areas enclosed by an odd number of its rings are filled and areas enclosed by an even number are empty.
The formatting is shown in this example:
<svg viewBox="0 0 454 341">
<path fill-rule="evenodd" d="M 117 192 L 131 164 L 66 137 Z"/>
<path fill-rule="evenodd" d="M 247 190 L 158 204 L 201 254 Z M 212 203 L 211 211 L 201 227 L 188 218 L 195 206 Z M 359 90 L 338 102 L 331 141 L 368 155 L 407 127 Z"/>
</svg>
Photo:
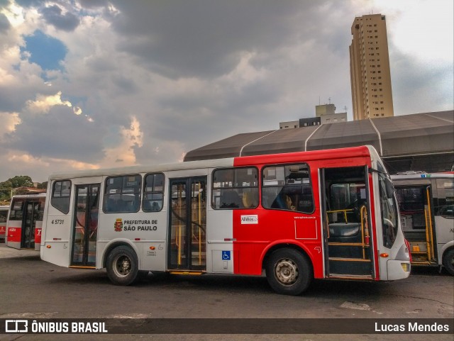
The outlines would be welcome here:
<svg viewBox="0 0 454 341">
<path fill-rule="evenodd" d="M 234 167 L 254 166 L 259 169 L 259 183 L 262 179 L 262 167 L 271 164 L 306 163 L 311 173 L 311 186 L 314 195 L 314 212 L 305 214 L 295 211 L 265 209 L 261 206 L 262 194 L 259 194 L 259 206 L 256 209 L 233 210 L 233 271 L 235 274 L 262 274 L 264 258 L 267 252 L 277 245 L 294 245 L 304 250 L 314 267 L 314 277 L 323 278 L 323 224 L 320 208 L 319 169 L 333 167 L 372 167 L 370 151 L 367 147 L 350 147 L 336 150 L 318 150 L 311 152 L 292 152 L 276 155 L 254 155 L 235 157 Z M 261 186 L 259 186 L 261 189 Z M 370 206 L 372 217 L 375 216 L 372 176 L 369 175 Z M 242 223 L 242 216 L 257 216 L 257 223 Z M 375 221 L 372 227 L 376 235 Z M 372 232 L 371 232 L 372 233 Z M 374 239 L 377 250 L 377 240 Z M 240 255 L 240 257 L 238 257 Z M 376 280 L 380 279 L 378 255 L 375 252 Z"/>
</svg>

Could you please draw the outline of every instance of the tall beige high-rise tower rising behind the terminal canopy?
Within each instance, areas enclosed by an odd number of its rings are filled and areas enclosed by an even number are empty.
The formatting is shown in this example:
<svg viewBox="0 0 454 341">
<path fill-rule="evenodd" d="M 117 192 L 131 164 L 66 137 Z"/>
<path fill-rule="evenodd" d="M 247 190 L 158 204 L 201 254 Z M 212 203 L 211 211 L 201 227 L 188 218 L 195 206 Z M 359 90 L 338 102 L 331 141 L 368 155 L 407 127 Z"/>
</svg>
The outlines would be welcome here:
<svg viewBox="0 0 454 341">
<path fill-rule="evenodd" d="M 385 16 L 355 18 L 350 45 L 353 119 L 394 116 Z"/>
</svg>

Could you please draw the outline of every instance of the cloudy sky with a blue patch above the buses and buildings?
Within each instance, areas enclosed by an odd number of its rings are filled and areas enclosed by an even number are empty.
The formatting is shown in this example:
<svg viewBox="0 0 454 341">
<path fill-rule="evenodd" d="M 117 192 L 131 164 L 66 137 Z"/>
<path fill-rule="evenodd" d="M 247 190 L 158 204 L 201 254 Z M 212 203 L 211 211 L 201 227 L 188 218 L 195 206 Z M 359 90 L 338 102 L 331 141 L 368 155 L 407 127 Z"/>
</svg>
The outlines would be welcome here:
<svg viewBox="0 0 454 341">
<path fill-rule="evenodd" d="M 0 181 L 178 162 L 237 133 L 352 119 L 355 16 L 387 18 L 394 114 L 453 108 L 453 0 L 0 0 Z"/>
</svg>

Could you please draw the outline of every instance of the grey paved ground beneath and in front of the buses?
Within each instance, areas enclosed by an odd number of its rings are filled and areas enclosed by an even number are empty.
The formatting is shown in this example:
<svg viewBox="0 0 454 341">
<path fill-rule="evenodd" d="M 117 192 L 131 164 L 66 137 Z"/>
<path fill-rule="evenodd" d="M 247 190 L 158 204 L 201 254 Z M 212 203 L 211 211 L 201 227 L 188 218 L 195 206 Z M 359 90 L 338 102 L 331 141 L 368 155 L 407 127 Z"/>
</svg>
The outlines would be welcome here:
<svg viewBox="0 0 454 341">
<path fill-rule="evenodd" d="M 394 282 L 315 281 L 303 296 L 251 276 L 155 276 L 114 286 L 104 270 L 57 267 L 0 245 L 0 318 L 454 318 L 454 279 L 419 269 Z M 327 328 L 329 326 L 327 325 Z M 139 332 L 139 330 L 138 330 Z M 448 340 L 452 335 L 0 335 L 12 340 Z"/>
</svg>

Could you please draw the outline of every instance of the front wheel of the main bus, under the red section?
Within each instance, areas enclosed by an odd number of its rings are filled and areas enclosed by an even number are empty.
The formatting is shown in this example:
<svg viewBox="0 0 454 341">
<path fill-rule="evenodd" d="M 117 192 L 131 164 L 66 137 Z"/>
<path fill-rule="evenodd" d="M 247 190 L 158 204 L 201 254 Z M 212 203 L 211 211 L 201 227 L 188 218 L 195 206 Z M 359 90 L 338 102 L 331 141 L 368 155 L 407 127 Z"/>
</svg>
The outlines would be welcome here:
<svg viewBox="0 0 454 341">
<path fill-rule="evenodd" d="M 283 295 L 302 294 L 314 276 L 309 259 L 294 249 L 276 250 L 265 268 L 268 283 L 277 294 Z"/>
</svg>

